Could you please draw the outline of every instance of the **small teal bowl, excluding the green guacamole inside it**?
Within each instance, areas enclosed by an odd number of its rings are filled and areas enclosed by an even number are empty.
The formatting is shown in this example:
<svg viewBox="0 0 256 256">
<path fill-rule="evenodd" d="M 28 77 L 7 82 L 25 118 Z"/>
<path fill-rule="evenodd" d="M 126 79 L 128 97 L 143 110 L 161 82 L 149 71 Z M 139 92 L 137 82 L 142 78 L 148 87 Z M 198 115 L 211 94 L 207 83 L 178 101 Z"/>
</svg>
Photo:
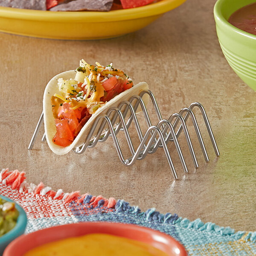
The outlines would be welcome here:
<svg viewBox="0 0 256 256">
<path fill-rule="evenodd" d="M 8 202 L 12 202 L 15 203 L 14 201 L 12 201 L 9 198 L 6 198 L 3 195 L 0 195 L 0 197 Z M 26 228 L 26 223 L 27 223 L 27 217 L 26 217 L 26 213 L 24 212 L 24 210 L 15 203 L 15 208 L 18 210 L 19 212 L 19 217 L 17 219 L 17 223 L 15 225 L 15 227 L 10 230 L 8 233 L 4 234 L 3 236 L 0 237 L 0 255 L 3 254 L 4 249 L 6 248 L 6 246 L 15 238 L 17 238 L 18 236 L 22 235 L 25 231 Z"/>
</svg>

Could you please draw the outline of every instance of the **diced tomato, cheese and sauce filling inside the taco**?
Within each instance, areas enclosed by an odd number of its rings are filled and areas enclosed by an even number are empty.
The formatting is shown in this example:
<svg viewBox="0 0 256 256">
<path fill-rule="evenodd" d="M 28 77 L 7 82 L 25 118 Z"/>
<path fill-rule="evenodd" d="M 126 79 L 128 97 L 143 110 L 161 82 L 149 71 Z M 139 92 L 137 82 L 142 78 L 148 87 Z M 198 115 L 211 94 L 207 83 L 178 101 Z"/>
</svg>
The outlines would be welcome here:
<svg viewBox="0 0 256 256">
<path fill-rule="evenodd" d="M 132 86 L 132 80 L 112 63 L 103 67 L 80 61 L 75 79 L 58 79 L 59 93 L 51 98 L 57 130 L 53 143 L 70 145 L 97 109 Z"/>
</svg>

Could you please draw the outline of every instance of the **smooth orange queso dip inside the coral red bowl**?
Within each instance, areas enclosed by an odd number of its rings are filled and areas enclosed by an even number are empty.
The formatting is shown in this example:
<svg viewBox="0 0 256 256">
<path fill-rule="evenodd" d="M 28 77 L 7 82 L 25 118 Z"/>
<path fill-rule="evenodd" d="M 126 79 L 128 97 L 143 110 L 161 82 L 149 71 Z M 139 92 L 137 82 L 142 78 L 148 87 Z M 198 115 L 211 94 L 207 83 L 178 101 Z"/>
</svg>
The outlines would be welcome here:
<svg viewBox="0 0 256 256">
<path fill-rule="evenodd" d="M 168 256 L 143 242 L 93 233 L 61 239 L 29 250 L 24 256 Z"/>
</svg>

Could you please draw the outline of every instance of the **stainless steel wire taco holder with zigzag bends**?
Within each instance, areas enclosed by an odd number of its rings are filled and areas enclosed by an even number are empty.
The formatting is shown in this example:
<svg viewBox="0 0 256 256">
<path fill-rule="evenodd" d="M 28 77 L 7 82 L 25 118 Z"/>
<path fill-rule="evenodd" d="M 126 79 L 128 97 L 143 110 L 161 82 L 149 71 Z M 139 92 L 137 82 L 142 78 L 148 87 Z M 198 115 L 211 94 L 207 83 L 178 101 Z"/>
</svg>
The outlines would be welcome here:
<svg viewBox="0 0 256 256">
<path fill-rule="evenodd" d="M 143 95 L 145 94 L 148 94 L 149 99 L 151 99 L 151 102 L 153 103 L 154 110 L 157 115 L 157 119 L 159 121 L 157 125 L 151 124 L 151 120 L 148 116 L 148 111 L 143 102 Z M 148 125 L 148 129 L 145 132 L 144 136 L 137 119 L 137 115 L 139 113 L 136 113 L 136 111 L 139 106 L 142 108 L 145 121 Z M 189 119 L 189 117 L 192 119 L 192 123 L 195 128 L 195 132 L 197 134 L 198 141 L 201 146 L 201 150 L 203 151 L 204 159 L 206 162 L 209 161 L 209 157 L 207 155 L 207 151 L 204 146 L 204 141 L 202 139 L 201 132 L 199 130 L 198 123 L 196 121 L 195 114 L 193 112 L 193 109 L 195 107 L 199 108 L 201 111 L 201 115 L 204 118 L 204 123 L 207 127 L 207 131 L 209 133 L 209 137 L 211 139 L 215 154 L 216 156 L 219 156 L 218 147 L 216 145 L 215 138 L 213 136 L 207 114 L 204 110 L 204 107 L 200 103 L 194 102 L 189 106 L 189 108 L 182 108 L 179 113 L 173 113 L 169 117 L 169 119 L 163 119 L 159 111 L 156 99 L 150 90 L 143 91 L 142 93 L 140 93 L 140 96 L 137 96 L 137 95 L 132 96 L 129 99 L 129 101 L 121 102 L 118 108 L 117 107 L 110 108 L 107 114 L 100 114 L 99 116 L 97 116 L 96 120 L 93 123 L 92 128 L 90 129 L 89 134 L 87 135 L 87 139 L 84 141 L 83 144 L 73 148 L 73 152 L 75 154 L 82 154 L 86 150 L 86 148 L 93 148 L 98 142 L 104 142 L 105 140 L 108 139 L 109 136 L 111 136 L 116 146 L 116 151 L 120 161 L 125 166 L 131 166 L 135 163 L 136 160 L 143 160 L 147 154 L 153 154 L 155 151 L 157 151 L 157 148 L 163 148 L 166 154 L 166 158 L 168 160 L 169 166 L 171 168 L 172 175 L 174 179 L 177 180 L 177 173 L 173 166 L 170 152 L 167 148 L 167 143 L 174 142 L 183 170 L 185 173 L 188 172 L 183 154 L 180 149 L 180 145 L 177 140 L 177 138 L 180 136 L 182 131 L 185 134 L 194 166 L 195 168 L 198 168 L 198 161 L 196 159 L 195 151 L 193 149 L 193 146 L 189 137 L 189 132 L 186 126 L 186 121 Z M 125 122 L 125 117 L 127 116 L 128 113 L 130 113 L 130 116 L 128 117 L 127 122 Z M 29 144 L 30 150 L 33 148 L 35 139 L 43 123 L 43 117 L 44 117 L 43 115 L 44 114 L 42 112 Z M 117 118 L 119 118 L 118 122 L 116 122 Z M 135 128 L 137 130 L 137 134 L 140 140 L 140 145 L 137 147 L 136 151 L 134 150 L 134 145 L 131 142 L 131 137 L 128 132 L 128 128 L 130 127 L 132 121 L 134 122 Z M 119 146 L 119 142 L 116 137 L 119 131 L 124 132 L 129 149 L 131 151 L 131 157 L 127 159 L 123 157 L 122 150 Z M 95 134 L 96 136 L 93 136 Z M 45 140 L 46 140 L 46 137 L 44 134 L 44 136 L 42 137 L 42 141 L 45 141 Z"/>
</svg>

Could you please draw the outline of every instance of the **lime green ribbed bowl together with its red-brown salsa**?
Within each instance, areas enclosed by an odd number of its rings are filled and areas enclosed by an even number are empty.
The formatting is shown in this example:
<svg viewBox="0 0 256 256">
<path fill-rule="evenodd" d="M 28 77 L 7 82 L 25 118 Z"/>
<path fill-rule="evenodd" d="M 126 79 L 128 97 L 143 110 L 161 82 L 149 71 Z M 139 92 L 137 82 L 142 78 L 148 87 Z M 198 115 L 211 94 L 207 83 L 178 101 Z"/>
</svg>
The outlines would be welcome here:
<svg viewBox="0 0 256 256">
<path fill-rule="evenodd" d="M 256 91 L 255 0 L 218 0 L 214 18 L 219 43 L 230 67 Z"/>
</svg>

